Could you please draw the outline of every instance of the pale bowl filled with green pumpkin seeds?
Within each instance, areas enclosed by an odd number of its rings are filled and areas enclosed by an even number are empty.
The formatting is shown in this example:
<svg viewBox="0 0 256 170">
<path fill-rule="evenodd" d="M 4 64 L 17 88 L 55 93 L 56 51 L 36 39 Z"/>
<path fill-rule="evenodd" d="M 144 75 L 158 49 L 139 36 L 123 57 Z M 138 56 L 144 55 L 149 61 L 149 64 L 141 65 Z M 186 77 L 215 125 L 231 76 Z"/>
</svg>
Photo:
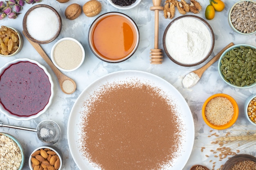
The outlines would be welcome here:
<svg viewBox="0 0 256 170">
<path fill-rule="evenodd" d="M 225 50 L 218 61 L 220 77 L 232 87 L 245 89 L 256 85 L 256 47 L 237 44 Z"/>
</svg>

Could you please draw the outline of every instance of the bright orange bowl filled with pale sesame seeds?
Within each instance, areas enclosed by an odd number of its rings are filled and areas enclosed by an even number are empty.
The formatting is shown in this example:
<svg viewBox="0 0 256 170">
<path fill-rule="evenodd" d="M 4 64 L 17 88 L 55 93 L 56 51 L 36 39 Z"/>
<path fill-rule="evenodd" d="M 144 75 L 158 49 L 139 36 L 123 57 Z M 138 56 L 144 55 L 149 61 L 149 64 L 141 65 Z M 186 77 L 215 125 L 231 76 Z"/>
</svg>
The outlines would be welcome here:
<svg viewBox="0 0 256 170">
<path fill-rule="evenodd" d="M 236 100 L 227 94 L 214 94 L 202 107 L 204 122 L 213 129 L 222 130 L 232 126 L 238 118 Z"/>
</svg>

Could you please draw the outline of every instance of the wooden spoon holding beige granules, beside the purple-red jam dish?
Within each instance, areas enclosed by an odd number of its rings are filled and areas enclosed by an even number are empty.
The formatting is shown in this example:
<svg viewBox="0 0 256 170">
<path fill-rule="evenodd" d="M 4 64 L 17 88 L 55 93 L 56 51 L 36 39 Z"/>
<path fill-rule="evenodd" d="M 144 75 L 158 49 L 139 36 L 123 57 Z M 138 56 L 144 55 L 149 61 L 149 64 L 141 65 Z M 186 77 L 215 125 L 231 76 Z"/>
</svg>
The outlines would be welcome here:
<svg viewBox="0 0 256 170">
<path fill-rule="evenodd" d="M 46 63 L 52 68 L 56 77 L 58 78 L 58 83 L 61 87 L 62 92 L 64 92 L 65 94 L 74 93 L 76 90 L 76 83 L 71 78 L 62 74 L 60 72 L 60 70 L 58 70 L 58 68 L 56 68 L 56 66 L 52 63 L 52 61 L 49 59 L 49 57 L 47 56 L 47 54 L 45 53 L 45 51 L 39 44 L 31 41 L 27 37 L 27 35 L 24 33 L 24 31 L 22 31 L 22 33 L 27 38 L 27 40 L 30 42 L 30 44 L 36 49 L 36 51 L 41 55 L 41 57 L 43 57 L 43 59 L 46 61 Z"/>
</svg>

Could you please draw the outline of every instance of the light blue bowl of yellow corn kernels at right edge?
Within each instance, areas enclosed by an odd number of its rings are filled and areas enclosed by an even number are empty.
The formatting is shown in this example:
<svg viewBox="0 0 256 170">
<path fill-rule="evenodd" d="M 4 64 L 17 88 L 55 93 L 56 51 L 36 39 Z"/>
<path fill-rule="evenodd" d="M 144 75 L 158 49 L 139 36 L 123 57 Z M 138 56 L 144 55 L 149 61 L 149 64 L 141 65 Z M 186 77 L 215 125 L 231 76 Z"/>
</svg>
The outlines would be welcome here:
<svg viewBox="0 0 256 170">
<path fill-rule="evenodd" d="M 256 125 L 256 94 L 249 96 L 245 100 L 245 117 L 251 122 L 253 125 Z"/>
</svg>

